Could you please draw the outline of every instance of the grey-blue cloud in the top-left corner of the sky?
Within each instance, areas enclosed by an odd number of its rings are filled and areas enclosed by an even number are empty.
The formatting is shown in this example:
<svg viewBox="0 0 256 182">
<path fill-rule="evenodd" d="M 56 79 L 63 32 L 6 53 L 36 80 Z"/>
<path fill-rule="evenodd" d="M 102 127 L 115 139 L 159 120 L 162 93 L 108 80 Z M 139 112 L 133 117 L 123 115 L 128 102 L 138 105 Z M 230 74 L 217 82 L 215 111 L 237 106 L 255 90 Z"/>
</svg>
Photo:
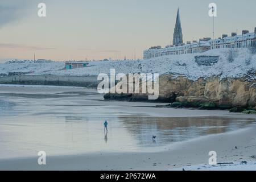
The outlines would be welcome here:
<svg viewBox="0 0 256 182">
<path fill-rule="evenodd" d="M 0 1 L 0 27 L 24 17 L 28 8 L 28 0 L 1 0 Z"/>
</svg>

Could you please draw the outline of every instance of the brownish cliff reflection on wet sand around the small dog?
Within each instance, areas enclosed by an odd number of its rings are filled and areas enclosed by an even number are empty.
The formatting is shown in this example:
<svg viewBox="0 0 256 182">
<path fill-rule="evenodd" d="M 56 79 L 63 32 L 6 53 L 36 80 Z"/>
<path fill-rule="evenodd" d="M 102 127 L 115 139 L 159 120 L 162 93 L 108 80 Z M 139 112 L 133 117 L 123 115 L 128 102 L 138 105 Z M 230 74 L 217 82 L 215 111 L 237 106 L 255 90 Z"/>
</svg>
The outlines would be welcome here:
<svg viewBox="0 0 256 182">
<path fill-rule="evenodd" d="M 255 119 L 225 117 L 119 117 L 140 146 L 164 145 L 202 135 L 220 134 L 250 125 Z"/>
</svg>

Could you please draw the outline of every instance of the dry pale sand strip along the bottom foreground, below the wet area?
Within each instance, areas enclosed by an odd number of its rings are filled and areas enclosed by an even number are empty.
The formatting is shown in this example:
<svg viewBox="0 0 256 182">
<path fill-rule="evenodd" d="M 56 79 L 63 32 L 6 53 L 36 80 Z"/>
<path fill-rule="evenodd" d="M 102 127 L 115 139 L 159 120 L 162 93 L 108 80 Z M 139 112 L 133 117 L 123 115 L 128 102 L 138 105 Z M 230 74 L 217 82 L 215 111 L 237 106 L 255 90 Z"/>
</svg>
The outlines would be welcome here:
<svg viewBox="0 0 256 182">
<path fill-rule="evenodd" d="M 208 152 L 217 152 L 218 163 L 241 163 L 238 170 L 256 169 L 256 126 L 239 131 L 210 135 L 166 147 L 162 152 L 119 152 L 73 156 L 49 156 L 46 166 L 38 158 L 1 160 L 1 170 L 176 170 L 201 164 L 207 166 Z M 237 146 L 237 149 L 235 148 Z M 214 167 L 212 167 L 214 169 Z M 198 168 L 197 168 L 198 169 Z M 221 168 L 218 168 L 221 169 Z"/>
</svg>

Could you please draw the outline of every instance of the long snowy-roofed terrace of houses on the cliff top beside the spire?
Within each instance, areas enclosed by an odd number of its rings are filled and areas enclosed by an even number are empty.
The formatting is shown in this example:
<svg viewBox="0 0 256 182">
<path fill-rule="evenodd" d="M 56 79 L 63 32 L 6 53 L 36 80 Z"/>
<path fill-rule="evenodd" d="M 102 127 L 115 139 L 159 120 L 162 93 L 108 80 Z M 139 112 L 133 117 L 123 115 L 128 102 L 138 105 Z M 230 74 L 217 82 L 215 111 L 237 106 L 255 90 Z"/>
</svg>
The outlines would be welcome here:
<svg viewBox="0 0 256 182">
<path fill-rule="evenodd" d="M 256 46 L 256 27 L 254 32 L 247 30 L 242 31 L 242 35 L 237 35 L 232 32 L 231 36 L 226 34 L 222 35 L 222 38 L 200 39 L 198 42 L 187 42 L 187 44 L 180 44 L 179 46 L 166 46 L 162 48 L 160 46 L 151 47 L 143 52 L 144 59 L 151 59 L 153 57 L 167 56 L 167 55 L 183 55 L 188 53 L 201 53 L 210 49 L 217 48 L 249 48 Z"/>
</svg>

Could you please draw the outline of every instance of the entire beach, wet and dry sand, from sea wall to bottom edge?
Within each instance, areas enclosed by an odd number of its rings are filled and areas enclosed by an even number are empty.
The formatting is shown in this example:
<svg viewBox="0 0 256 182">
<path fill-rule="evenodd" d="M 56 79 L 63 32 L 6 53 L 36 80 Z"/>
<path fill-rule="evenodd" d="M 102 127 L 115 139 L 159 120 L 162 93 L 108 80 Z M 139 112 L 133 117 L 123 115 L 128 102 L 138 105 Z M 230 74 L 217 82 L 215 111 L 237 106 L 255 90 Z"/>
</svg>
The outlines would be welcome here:
<svg viewBox="0 0 256 182">
<path fill-rule="evenodd" d="M 256 169 L 255 114 L 106 102 L 97 90 L 57 86 L 2 85 L 0 100 L 1 170 Z M 209 151 L 221 164 L 208 165 Z"/>
</svg>

